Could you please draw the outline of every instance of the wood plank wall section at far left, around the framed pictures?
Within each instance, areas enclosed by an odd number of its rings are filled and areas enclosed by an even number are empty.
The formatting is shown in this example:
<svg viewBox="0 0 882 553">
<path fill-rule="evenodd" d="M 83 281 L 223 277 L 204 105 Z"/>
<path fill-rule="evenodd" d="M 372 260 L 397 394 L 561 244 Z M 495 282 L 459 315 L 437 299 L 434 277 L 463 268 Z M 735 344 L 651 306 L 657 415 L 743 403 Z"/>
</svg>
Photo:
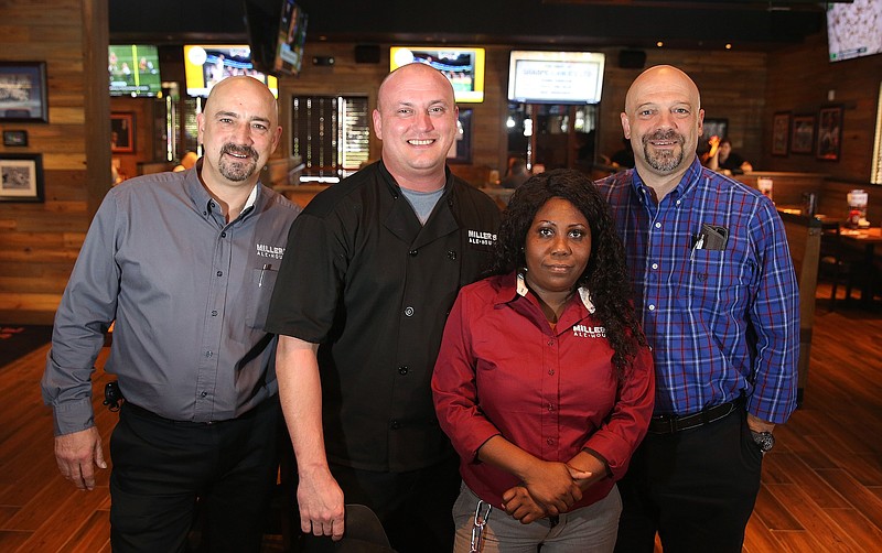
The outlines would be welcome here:
<svg viewBox="0 0 882 553">
<path fill-rule="evenodd" d="M 0 122 L 2 130 L 28 131 L 26 148 L 0 147 L 0 151 L 41 153 L 45 183 L 44 203 L 0 203 L 0 321 L 4 323 L 52 322 L 96 199 L 103 195 L 90 175 L 106 174 L 103 189 L 109 187 L 109 151 L 101 159 L 89 145 L 96 132 L 104 132 L 104 143 L 110 140 L 109 128 L 89 124 L 96 121 L 93 112 L 100 109 L 96 106 L 107 106 L 107 100 L 88 94 L 96 80 L 107 86 L 87 55 L 93 47 L 100 50 L 101 42 L 106 51 L 107 0 L 0 4 L 0 59 L 46 62 L 49 86 L 49 123 Z M 99 58 L 104 66 L 106 55 Z"/>
</svg>

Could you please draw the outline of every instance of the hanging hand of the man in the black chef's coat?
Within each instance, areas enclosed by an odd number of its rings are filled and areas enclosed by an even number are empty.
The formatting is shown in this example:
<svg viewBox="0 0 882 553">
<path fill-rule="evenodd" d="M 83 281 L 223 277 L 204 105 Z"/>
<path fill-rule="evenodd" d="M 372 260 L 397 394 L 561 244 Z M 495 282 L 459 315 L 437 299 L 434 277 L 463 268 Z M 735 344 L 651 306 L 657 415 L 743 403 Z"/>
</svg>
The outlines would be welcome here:
<svg viewBox="0 0 882 553">
<path fill-rule="evenodd" d="M 300 529 L 314 535 L 330 535 L 334 541 L 343 538 L 345 508 L 343 490 L 327 467 L 300 475 L 297 487 L 300 506 Z"/>
</svg>

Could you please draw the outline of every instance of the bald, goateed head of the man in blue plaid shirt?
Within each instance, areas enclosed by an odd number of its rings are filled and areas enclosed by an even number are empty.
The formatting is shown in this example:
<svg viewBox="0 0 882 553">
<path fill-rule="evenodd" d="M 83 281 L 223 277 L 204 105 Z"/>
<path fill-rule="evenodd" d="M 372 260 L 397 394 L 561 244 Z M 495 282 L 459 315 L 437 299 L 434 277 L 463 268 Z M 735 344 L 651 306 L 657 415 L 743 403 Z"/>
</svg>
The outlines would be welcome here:
<svg viewBox="0 0 882 553">
<path fill-rule="evenodd" d="M 637 171 L 664 176 L 685 170 L 696 156 L 703 119 L 698 88 L 684 73 L 658 67 L 637 77 L 622 113 Z"/>
</svg>

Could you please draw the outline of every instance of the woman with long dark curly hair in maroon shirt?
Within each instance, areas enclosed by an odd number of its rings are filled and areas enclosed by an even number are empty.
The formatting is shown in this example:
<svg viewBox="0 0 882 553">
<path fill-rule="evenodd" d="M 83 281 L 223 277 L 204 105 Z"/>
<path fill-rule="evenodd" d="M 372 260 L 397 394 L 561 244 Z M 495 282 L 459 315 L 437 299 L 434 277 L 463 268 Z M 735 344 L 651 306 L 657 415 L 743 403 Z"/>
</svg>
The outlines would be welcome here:
<svg viewBox="0 0 882 553">
<path fill-rule="evenodd" d="M 622 477 L 653 411 L 624 252 L 589 177 L 512 196 L 493 276 L 461 290 L 432 379 L 461 456 L 454 551 L 612 551 Z"/>
</svg>

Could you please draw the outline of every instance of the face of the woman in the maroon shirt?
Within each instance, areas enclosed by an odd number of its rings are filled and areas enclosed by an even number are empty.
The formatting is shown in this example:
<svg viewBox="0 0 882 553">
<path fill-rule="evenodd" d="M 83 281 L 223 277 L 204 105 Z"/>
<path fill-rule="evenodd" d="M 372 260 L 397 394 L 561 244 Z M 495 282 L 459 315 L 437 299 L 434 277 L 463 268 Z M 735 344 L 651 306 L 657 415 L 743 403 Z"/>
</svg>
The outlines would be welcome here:
<svg viewBox="0 0 882 553">
<path fill-rule="evenodd" d="M 591 257 L 588 219 L 568 199 L 549 199 L 533 219 L 524 253 L 527 284 L 540 297 L 572 291 Z"/>
</svg>

